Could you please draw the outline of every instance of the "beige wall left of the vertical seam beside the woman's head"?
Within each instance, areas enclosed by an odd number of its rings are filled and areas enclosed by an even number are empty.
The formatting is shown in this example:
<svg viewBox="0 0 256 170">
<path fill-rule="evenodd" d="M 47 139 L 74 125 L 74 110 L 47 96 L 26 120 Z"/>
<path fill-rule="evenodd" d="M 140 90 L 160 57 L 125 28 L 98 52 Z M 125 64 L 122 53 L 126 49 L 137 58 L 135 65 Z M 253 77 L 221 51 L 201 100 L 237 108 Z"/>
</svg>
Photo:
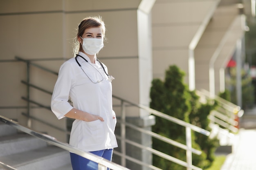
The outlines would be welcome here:
<svg viewBox="0 0 256 170">
<path fill-rule="evenodd" d="M 56 0 L 51 5 L 49 1 L 5 1 L 0 7 L 0 60 L 14 60 L 15 56 L 25 59 L 46 59 L 63 56 L 63 14 L 49 11 L 60 11 L 62 1 Z M 40 63 L 40 62 L 35 62 Z M 41 65 L 53 70 L 60 63 L 42 62 Z M 27 80 L 27 65 L 24 62 L 0 62 L 0 106 L 14 107 L 1 109 L 1 115 L 17 119 L 20 124 L 27 125 L 27 118 L 21 113 L 27 113 L 27 102 L 21 97 L 27 97 L 27 87 L 21 80 Z M 56 76 L 41 73 L 36 67 L 31 66 L 30 82 L 52 91 Z M 7 100 L 6 96 L 10 96 Z M 51 95 L 41 93 L 31 88 L 30 97 L 36 102 L 49 106 Z M 31 115 L 40 117 L 49 123 L 54 122 L 51 111 L 31 105 Z M 65 119 L 57 121 L 56 126 L 65 128 Z M 34 130 L 51 133 L 52 128 L 40 128 L 38 121 L 32 121 Z M 56 138 L 65 141 L 61 133 L 56 133 Z"/>
</svg>

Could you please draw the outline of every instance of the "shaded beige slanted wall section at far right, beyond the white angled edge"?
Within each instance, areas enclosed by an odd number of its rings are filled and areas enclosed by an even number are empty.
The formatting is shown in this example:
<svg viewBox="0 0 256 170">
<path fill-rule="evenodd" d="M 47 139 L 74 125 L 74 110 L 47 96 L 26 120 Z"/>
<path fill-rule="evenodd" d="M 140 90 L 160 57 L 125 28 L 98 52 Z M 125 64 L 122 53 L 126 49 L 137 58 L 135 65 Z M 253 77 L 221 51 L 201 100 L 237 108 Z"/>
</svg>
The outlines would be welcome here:
<svg viewBox="0 0 256 170">
<path fill-rule="evenodd" d="M 244 34 L 245 20 L 236 4 L 219 6 L 195 49 L 195 82 L 197 89 L 216 95 L 220 92 L 220 68 L 225 68 Z M 209 75 L 211 65 L 214 74 Z M 222 81 L 224 81 L 222 79 Z M 212 85 L 210 85 L 212 83 Z M 214 87 L 212 89 L 211 87 Z"/>
</svg>

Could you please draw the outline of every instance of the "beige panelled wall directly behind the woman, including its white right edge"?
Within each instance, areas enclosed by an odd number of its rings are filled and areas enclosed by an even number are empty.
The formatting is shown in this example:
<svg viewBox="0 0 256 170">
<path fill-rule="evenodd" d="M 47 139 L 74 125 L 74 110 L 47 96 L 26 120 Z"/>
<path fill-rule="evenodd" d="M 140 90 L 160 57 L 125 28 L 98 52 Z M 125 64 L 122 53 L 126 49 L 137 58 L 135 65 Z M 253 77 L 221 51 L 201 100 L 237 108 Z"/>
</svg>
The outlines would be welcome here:
<svg viewBox="0 0 256 170">
<path fill-rule="evenodd" d="M 148 105 L 149 88 L 152 80 L 150 7 L 154 0 L 8 0 L 0 2 L 0 115 L 18 119 L 27 124 L 24 108 L 27 102 L 27 88 L 21 80 L 27 79 L 27 66 L 15 62 L 14 57 L 34 59 L 35 64 L 58 72 L 64 60 L 73 57 L 72 38 L 76 28 L 88 15 L 101 15 L 105 21 L 108 42 L 100 51 L 99 59 L 108 66 L 112 82 L 113 95 L 135 103 Z M 48 60 L 63 58 L 63 60 Z M 46 59 L 46 60 L 41 60 Z M 47 91 L 52 91 L 56 75 L 52 75 L 31 66 L 30 82 Z M 51 95 L 31 89 L 30 99 L 50 105 Z M 114 99 L 114 105 L 120 104 Z M 6 106 L 17 108 L 6 108 Z M 31 115 L 54 124 L 66 127 L 65 119 L 57 120 L 50 110 L 31 105 Z M 120 107 L 114 107 L 120 115 Z M 129 117 L 144 117 L 148 113 L 128 107 Z M 65 141 L 65 135 L 49 127 L 43 127 L 38 121 L 32 121 L 32 128 L 48 132 L 59 140 Z"/>
</svg>

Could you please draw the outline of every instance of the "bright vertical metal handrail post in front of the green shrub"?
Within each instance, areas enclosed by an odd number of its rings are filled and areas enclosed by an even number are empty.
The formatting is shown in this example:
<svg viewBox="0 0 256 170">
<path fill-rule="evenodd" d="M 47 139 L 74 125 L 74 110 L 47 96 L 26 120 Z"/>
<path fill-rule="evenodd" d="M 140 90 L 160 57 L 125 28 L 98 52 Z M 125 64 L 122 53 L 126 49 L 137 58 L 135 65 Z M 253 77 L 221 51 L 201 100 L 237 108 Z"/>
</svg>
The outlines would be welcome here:
<svg viewBox="0 0 256 170">
<path fill-rule="evenodd" d="M 188 163 L 187 170 L 192 170 L 192 137 L 191 137 L 191 128 L 186 126 L 186 162 Z"/>
</svg>

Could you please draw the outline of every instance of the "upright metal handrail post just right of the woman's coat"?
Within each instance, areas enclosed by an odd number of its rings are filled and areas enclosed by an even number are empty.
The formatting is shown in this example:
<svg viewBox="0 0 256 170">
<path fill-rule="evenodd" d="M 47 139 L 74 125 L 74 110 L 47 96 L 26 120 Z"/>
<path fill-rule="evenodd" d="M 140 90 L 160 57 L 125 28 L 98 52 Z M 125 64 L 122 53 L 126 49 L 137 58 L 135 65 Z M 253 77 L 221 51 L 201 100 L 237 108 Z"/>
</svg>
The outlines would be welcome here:
<svg viewBox="0 0 256 170">
<path fill-rule="evenodd" d="M 126 125 L 125 125 L 126 113 L 124 100 L 121 100 L 121 166 L 126 167 Z"/>
</svg>

